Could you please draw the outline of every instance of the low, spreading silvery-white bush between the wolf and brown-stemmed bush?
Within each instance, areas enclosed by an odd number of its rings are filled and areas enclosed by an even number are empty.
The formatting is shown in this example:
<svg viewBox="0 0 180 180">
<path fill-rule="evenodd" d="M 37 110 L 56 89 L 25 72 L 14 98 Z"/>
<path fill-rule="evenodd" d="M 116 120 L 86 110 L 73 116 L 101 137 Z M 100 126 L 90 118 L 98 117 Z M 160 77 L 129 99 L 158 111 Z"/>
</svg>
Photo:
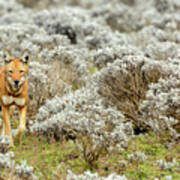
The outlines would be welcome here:
<svg viewBox="0 0 180 180">
<path fill-rule="evenodd" d="M 96 75 L 94 76 L 96 79 Z M 62 139 L 73 136 L 92 138 L 94 147 L 119 147 L 133 134 L 132 124 L 124 123 L 124 116 L 116 108 L 103 105 L 97 93 L 97 85 L 89 79 L 86 87 L 55 97 L 39 109 L 37 123 L 32 132 Z M 127 136 L 128 135 L 128 136 Z"/>
</svg>

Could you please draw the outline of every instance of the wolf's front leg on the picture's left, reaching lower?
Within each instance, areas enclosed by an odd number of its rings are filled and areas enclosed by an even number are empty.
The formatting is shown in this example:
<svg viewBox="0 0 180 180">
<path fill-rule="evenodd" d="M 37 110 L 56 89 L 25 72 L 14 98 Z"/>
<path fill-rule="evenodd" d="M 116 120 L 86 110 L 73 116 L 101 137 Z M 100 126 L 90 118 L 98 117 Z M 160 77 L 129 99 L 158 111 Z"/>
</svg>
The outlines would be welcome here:
<svg viewBox="0 0 180 180">
<path fill-rule="evenodd" d="M 11 124 L 10 124 L 10 115 L 9 115 L 9 107 L 2 106 L 3 113 L 3 129 L 4 135 L 8 136 L 10 139 L 10 146 L 14 146 L 12 133 L 11 133 Z"/>
</svg>

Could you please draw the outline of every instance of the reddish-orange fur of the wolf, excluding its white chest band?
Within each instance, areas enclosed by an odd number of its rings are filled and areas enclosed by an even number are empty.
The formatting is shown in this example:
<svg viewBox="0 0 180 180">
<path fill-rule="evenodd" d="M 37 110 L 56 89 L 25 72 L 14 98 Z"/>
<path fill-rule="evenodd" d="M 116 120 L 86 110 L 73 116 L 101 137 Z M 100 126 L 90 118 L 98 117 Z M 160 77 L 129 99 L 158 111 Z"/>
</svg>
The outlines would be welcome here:
<svg viewBox="0 0 180 180">
<path fill-rule="evenodd" d="M 22 76 L 27 75 L 29 65 L 24 63 L 22 59 L 10 59 L 8 63 L 5 63 L 3 67 L 0 67 L 0 103 L 3 111 L 3 124 L 5 135 L 10 137 L 11 143 L 10 146 L 13 146 L 13 139 L 11 134 L 11 126 L 9 119 L 12 117 L 10 112 L 10 107 L 15 105 L 19 109 L 19 117 L 20 117 L 20 126 L 17 133 L 18 140 L 21 138 L 22 133 L 25 130 L 26 124 L 26 106 L 28 103 L 28 81 L 25 80 L 24 83 L 18 87 L 17 89 L 13 88 L 13 86 L 8 82 L 7 78 L 10 78 L 13 82 L 15 80 L 21 80 Z M 24 73 L 22 74 L 20 70 L 23 69 Z M 9 73 L 9 70 L 12 70 L 12 73 Z M 5 104 L 3 102 L 3 97 L 7 98 L 20 98 L 25 99 L 25 103 L 21 106 L 13 101 L 11 104 Z M 13 111 L 12 111 L 13 112 Z"/>
</svg>

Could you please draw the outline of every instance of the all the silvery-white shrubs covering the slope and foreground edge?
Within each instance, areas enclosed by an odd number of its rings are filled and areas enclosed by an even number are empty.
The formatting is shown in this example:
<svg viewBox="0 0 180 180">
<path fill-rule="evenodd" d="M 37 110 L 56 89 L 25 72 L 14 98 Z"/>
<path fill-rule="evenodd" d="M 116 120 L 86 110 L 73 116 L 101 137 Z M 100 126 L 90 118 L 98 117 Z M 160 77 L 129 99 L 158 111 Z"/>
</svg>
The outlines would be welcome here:
<svg viewBox="0 0 180 180">
<path fill-rule="evenodd" d="M 32 56 L 30 132 L 76 139 L 89 163 L 102 148 L 126 147 L 134 129 L 170 130 L 177 140 L 179 13 L 179 0 L 0 0 L 0 54 L 29 49 Z"/>
</svg>

